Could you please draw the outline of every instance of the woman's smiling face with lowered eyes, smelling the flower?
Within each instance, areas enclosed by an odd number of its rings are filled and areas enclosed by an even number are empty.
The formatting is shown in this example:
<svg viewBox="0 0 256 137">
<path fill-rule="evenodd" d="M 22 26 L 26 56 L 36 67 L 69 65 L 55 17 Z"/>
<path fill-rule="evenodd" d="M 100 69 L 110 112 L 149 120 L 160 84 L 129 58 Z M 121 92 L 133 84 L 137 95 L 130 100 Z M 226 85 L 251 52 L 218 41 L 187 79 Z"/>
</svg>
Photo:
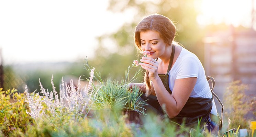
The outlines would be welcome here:
<svg viewBox="0 0 256 137">
<path fill-rule="evenodd" d="M 147 57 L 156 59 L 164 55 L 167 44 L 160 37 L 160 34 L 155 30 L 141 32 L 141 48 L 143 51 L 149 51 Z"/>
</svg>

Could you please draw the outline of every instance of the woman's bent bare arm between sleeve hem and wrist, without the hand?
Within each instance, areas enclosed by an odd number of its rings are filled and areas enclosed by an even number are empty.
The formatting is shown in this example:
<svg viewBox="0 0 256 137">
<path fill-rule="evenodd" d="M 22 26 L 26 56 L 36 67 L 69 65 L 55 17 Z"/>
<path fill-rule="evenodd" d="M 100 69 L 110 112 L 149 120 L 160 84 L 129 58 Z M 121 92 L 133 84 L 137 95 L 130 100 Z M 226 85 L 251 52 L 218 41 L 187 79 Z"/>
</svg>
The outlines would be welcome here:
<svg viewBox="0 0 256 137">
<path fill-rule="evenodd" d="M 197 78 L 176 79 L 172 94 L 165 89 L 160 77 L 152 79 L 155 94 L 161 107 L 165 110 L 170 118 L 179 114 L 184 107 L 188 98 L 196 85 Z"/>
</svg>

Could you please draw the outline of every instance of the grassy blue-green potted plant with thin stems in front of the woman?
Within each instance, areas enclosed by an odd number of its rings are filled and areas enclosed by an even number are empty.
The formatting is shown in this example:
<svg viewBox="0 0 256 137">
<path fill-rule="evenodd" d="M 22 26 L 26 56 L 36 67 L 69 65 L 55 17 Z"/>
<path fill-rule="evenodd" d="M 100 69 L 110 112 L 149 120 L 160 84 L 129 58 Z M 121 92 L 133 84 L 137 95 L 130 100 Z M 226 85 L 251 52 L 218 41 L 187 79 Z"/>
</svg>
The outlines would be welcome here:
<svg viewBox="0 0 256 137">
<path fill-rule="evenodd" d="M 90 71 L 91 69 L 87 59 L 85 65 L 85 69 Z M 136 63 L 132 64 L 132 67 L 136 66 Z M 99 74 L 97 77 L 94 76 L 98 84 L 93 84 L 94 90 L 90 93 L 91 97 L 93 97 L 93 103 L 91 103 L 90 108 L 95 112 L 100 112 L 101 118 L 113 115 L 113 113 L 110 113 L 111 111 L 114 112 L 115 117 L 118 117 L 119 112 L 121 112 L 121 114 L 127 115 L 127 122 L 140 123 L 139 115 L 145 115 L 144 106 L 147 103 L 140 99 L 142 96 L 140 89 L 138 87 L 133 87 L 132 89 L 126 88 L 128 83 L 137 79 L 136 76 L 142 70 L 141 68 L 138 69 L 135 75 L 130 79 L 129 72 L 132 67 L 128 67 L 128 70 L 125 72 L 125 79 L 122 80 L 121 83 L 111 78 L 102 80 Z"/>
</svg>

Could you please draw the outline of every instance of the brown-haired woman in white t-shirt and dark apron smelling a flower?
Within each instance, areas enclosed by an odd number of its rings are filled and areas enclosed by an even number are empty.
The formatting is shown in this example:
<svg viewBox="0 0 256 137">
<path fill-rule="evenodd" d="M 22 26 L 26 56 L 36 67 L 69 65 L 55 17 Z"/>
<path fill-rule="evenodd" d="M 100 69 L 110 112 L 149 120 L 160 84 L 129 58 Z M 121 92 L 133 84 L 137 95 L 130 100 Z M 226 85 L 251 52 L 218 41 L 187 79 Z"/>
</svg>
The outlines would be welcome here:
<svg viewBox="0 0 256 137">
<path fill-rule="evenodd" d="M 146 70 L 144 83 L 130 83 L 140 87 L 148 103 L 170 119 L 194 125 L 201 119 L 212 134 L 219 132 L 218 117 L 211 89 L 203 66 L 197 56 L 174 41 L 175 25 L 169 18 L 153 14 L 145 17 L 135 29 L 135 44 L 140 52 L 149 51 L 140 60 Z M 218 117 L 219 118 L 219 117 Z"/>
</svg>

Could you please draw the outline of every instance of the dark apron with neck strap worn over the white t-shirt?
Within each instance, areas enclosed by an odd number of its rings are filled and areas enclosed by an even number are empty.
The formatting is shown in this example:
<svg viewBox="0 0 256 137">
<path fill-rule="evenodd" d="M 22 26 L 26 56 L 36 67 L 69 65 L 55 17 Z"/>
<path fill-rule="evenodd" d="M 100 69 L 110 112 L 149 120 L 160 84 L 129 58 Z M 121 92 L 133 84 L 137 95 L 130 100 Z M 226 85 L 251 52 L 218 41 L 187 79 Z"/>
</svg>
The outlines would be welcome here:
<svg viewBox="0 0 256 137">
<path fill-rule="evenodd" d="M 175 46 L 172 46 L 172 52 L 170 57 L 170 62 L 168 66 L 168 70 L 166 74 L 158 74 L 160 79 L 162 80 L 166 90 L 171 94 L 171 90 L 169 88 L 169 75 L 168 72 L 171 70 L 171 65 L 174 59 Z M 150 107 L 153 107 L 158 114 L 164 114 L 162 107 L 160 106 L 156 96 L 149 95 L 148 97 L 142 96 L 142 99 L 147 100 L 147 103 Z M 187 103 L 184 105 L 180 113 L 172 118 L 171 120 L 181 124 L 182 122 L 186 126 L 196 125 L 198 119 L 201 120 L 201 125 L 207 118 L 212 110 L 212 99 L 213 98 L 188 98 Z"/>
</svg>

